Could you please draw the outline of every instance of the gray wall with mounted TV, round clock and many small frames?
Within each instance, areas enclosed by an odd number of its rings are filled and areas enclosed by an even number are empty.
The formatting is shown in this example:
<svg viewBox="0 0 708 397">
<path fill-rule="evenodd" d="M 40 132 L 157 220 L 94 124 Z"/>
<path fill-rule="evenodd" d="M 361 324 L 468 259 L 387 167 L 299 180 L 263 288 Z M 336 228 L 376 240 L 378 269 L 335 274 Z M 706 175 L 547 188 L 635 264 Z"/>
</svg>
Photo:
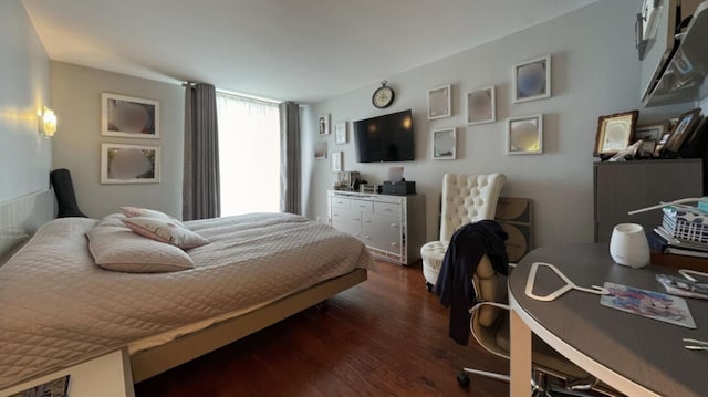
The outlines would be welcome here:
<svg viewBox="0 0 708 397">
<path fill-rule="evenodd" d="M 344 169 L 363 173 L 369 182 L 385 180 L 389 166 L 357 164 L 351 134 L 350 143 L 342 146 L 334 144 L 332 135 L 319 137 L 317 116 L 330 113 L 334 125 L 339 121 L 412 108 L 416 160 L 395 165 L 405 166 L 405 177 L 415 180 L 418 192 L 426 195 L 429 240 L 438 234 L 438 196 L 445 173 L 499 171 L 509 178 L 504 196 L 533 200 L 534 245 L 592 241 L 592 152 L 597 117 L 642 107 L 639 62 L 634 49 L 634 20 L 638 9 L 638 1 L 603 0 L 405 73 L 382 76 L 396 91 L 394 105 L 385 111 L 371 105 L 377 83 L 308 106 L 302 130 L 305 215 L 326 220 L 326 190 L 334 180 L 329 161 L 312 158 L 315 140 L 329 140 L 330 153 L 344 152 Z M 512 66 L 545 54 L 553 55 L 553 96 L 512 104 Z M 441 84 L 452 84 L 452 117 L 429 122 L 427 91 Z M 498 121 L 467 127 L 465 94 L 491 84 L 497 86 Z M 676 116 L 687 107 L 690 105 L 642 108 L 641 121 Z M 507 156 L 506 119 L 539 113 L 544 115 L 544 154 Z M 430 130 L 441 127 L 457 127 L 457 160 L 431 160 Z"/>
</svg>

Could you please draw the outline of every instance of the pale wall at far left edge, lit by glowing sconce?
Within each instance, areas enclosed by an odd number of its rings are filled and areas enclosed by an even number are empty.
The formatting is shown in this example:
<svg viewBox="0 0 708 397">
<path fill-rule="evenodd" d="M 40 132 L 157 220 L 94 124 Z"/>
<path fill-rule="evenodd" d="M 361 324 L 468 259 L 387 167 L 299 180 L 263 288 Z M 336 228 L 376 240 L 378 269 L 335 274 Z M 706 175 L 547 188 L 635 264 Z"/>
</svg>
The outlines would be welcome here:
<svg viewBox="0 0 708 397">
<path fill-rule="evenodd" d="M 50 106 L 49 58 L 22 1 L 0 1 L 0 202 L 49 188 L 52 142 L 39 133 Z"/>
</svg>

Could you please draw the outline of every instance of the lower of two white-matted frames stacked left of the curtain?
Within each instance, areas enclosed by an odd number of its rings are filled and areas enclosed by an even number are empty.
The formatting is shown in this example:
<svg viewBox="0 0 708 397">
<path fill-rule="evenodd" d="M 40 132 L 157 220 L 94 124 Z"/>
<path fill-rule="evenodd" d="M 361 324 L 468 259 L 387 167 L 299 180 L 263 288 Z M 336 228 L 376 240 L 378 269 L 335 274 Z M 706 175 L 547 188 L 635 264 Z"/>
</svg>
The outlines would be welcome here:
<svg viewBox="0 0 708 397">
<path fill-rule="evenodd" d="M 159 184 L 159 146 L 101 144 L 101 184 Z"/>
</svg>

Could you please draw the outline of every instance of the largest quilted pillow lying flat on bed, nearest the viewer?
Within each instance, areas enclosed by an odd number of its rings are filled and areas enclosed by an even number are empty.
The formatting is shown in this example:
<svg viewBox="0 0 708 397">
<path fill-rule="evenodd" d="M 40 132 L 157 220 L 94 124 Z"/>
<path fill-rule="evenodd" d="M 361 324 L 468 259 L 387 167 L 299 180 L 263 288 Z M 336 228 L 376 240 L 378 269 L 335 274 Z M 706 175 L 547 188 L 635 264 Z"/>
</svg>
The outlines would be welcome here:
<svg viewBox="0 0 708 397">
<path fill-rule="evenodd" d="M 177 247 L 142 238 L 123 227 L 91 229 L 88 250 L 97 265 L 129 273 L 160 273 L 194 269 L 195 262 Z"/>
</svg>

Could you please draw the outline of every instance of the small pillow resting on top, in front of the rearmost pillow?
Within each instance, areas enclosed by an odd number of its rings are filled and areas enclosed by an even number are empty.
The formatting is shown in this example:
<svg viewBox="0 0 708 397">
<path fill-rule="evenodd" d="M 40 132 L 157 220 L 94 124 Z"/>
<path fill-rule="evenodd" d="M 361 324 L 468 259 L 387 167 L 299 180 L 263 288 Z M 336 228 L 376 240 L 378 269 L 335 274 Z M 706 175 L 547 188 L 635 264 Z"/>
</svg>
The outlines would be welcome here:
<svg viewBox="0 0 708 397">
<path fill-rule="evenodd" d="M 155 218 L 135 217 L 122 219 L 134 232 L 160 242 L 188 250 L 209 243 L 209 240 L 175 222 Z"/>
</svg>

